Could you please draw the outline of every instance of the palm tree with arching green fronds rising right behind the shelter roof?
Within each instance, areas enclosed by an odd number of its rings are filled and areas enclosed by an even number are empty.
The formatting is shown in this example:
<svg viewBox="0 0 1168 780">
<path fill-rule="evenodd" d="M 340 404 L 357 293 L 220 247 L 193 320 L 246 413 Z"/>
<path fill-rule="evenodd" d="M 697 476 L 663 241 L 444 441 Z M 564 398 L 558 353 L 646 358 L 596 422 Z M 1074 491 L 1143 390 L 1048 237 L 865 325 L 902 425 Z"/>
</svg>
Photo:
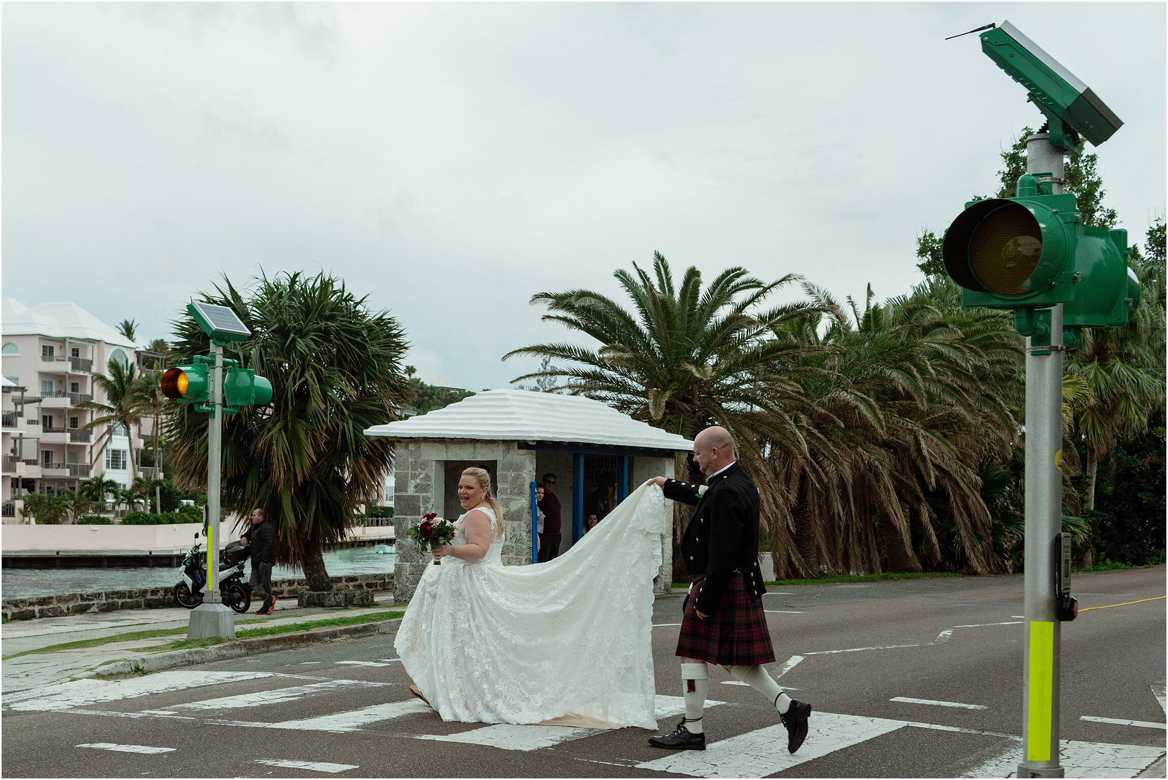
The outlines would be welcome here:
<svg viewBox="0 0 1168 780">
<path fill-rule="evenodd" d="M 632 312 L 591 290 L 533 295 L 533 305 L 543 304 L 551 312 L 544 320 L 591 336 L 599 347 L 543 343 L 515 349 L 503 360 L 534 355 L 557 364 L 544 363 L 512 382 L 558 377 L 549 390 L 603 401 L 634 419 L 690 438 L 709 425 L 722 425 L 737 440 L 744 467 L 756 475 L 764 468 L 763 439 L 770 445 L 766 455 L 807 457 L 806 431 L 792 422 L 792 412 L 806 406 L 800 370 L 779 370 L 794 365 L 807 347 L 773 339 L 771 333 L 820 308 L 807 302 L 763 307 L 771 293 L 798 277 L 763 283 L 745 269 L 731 267 L 703 291 L 696 267 L 675 285 L 659 252 L 653 256 L 652 276 L 637 264 L 633 273 L 619 270 L 614 276 L 632 301 Z M 702 479 L 691 459 L 687 464 L 679 457 L 677 473 L 687 468 L 688 479 Z M 774 487 L 759 481 L 767 523 L 786 500 Z M 677 539 L 688 518 L 677 504 Z"/>
</svg>

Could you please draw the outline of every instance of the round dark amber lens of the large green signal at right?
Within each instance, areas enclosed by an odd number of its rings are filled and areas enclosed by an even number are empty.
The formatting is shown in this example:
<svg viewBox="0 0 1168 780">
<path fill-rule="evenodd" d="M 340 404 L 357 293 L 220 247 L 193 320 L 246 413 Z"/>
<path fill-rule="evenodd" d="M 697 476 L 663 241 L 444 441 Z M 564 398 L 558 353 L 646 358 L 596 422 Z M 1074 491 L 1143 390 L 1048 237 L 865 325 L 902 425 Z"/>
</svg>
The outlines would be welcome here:
<svg viewBox="0 0 1168 780">
<path fill-rule="evenodd" d="M 1017 203 L 993 211 L 969 238 L 969 269 L 989 292 L 999 295 L 1034 292 L 1022 285 L 1038 267 L 1040 257 L 1038 221 Z"/>
</svg>

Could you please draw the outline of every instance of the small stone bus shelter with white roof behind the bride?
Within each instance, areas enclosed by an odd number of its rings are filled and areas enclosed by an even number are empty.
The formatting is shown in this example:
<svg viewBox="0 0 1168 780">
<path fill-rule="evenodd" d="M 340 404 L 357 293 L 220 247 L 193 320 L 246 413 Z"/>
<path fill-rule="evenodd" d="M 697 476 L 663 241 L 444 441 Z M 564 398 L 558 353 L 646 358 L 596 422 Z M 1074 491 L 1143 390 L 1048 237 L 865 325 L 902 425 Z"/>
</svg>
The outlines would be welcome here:
<svg viewBox="0 0 1168 780">
<path fill-rule="evenodd" d="M 503 565 L 535 559 L 535 481 L 556 475 L 563 555 L 584 535 L 584 517 L 602 520 L 631 489 L 653 476 L 673 478 L 676 452 L 693 441 L 634 420 L 607 404 L 579 396 L 527 390 L 487 390 L 443 409 L 375 425 L 367 436 L 396 443 L 394 599 L 413 596 L 431 565 L 405 530 L 431 511 L 450 520 L 463 514 L 458 480 L 464 468 L 487 469 L 503 509 Z M 673 516 L 673 502 L 665 511 Z M 658 592 L 673 581 L 673 539 L 662 539 Z"/>
</svg>

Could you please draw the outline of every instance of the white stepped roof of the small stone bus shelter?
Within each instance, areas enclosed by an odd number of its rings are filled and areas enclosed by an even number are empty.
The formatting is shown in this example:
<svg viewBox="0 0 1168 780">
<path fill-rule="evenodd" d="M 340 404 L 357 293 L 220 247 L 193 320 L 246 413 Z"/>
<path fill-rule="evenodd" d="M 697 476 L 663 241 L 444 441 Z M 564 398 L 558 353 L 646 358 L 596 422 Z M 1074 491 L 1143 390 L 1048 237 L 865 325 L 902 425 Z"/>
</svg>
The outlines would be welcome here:
<svg viewBox="0 0 1168 780">
<path fill-rule="evenodd" d="M 579 441 L 611 447 L 681 450 L 694 443 L 580 396 L 529 390 L 485 390 L 443 409 L 374 425 L 367 436 L 405 439 Z"/>
</svg>

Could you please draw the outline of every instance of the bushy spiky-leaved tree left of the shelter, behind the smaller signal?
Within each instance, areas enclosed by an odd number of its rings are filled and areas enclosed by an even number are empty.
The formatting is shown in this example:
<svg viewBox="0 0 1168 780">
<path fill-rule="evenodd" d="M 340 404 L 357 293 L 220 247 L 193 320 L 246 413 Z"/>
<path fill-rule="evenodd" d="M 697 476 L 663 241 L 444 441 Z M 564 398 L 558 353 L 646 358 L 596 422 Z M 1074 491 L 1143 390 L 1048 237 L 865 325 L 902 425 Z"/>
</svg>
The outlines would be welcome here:
<svg viewBox="0 0 1168 780">
<path fill-rule="evenodd" d="M 404 332 L 324 273 L 262 276 L 244 290 L 224 278 L 202 300 L 229 306 L 252 333 L 224 356 L 272 383 L 271 404 L 224 416 L 222 506 L 263 508 L 277 560 L 299 565 L 311 590 L 331 590 L 324 548 L 345 537 L 392 465 L 391 445 L 363 431 L 397 419 L 409 398 Z M 172 364 L 209 354 L 192 318 L 175 321 L 174 334 Z M 173 404 L 166 424 L 175 482 L 206 489 L 207 416 Z"/>
</svg>

